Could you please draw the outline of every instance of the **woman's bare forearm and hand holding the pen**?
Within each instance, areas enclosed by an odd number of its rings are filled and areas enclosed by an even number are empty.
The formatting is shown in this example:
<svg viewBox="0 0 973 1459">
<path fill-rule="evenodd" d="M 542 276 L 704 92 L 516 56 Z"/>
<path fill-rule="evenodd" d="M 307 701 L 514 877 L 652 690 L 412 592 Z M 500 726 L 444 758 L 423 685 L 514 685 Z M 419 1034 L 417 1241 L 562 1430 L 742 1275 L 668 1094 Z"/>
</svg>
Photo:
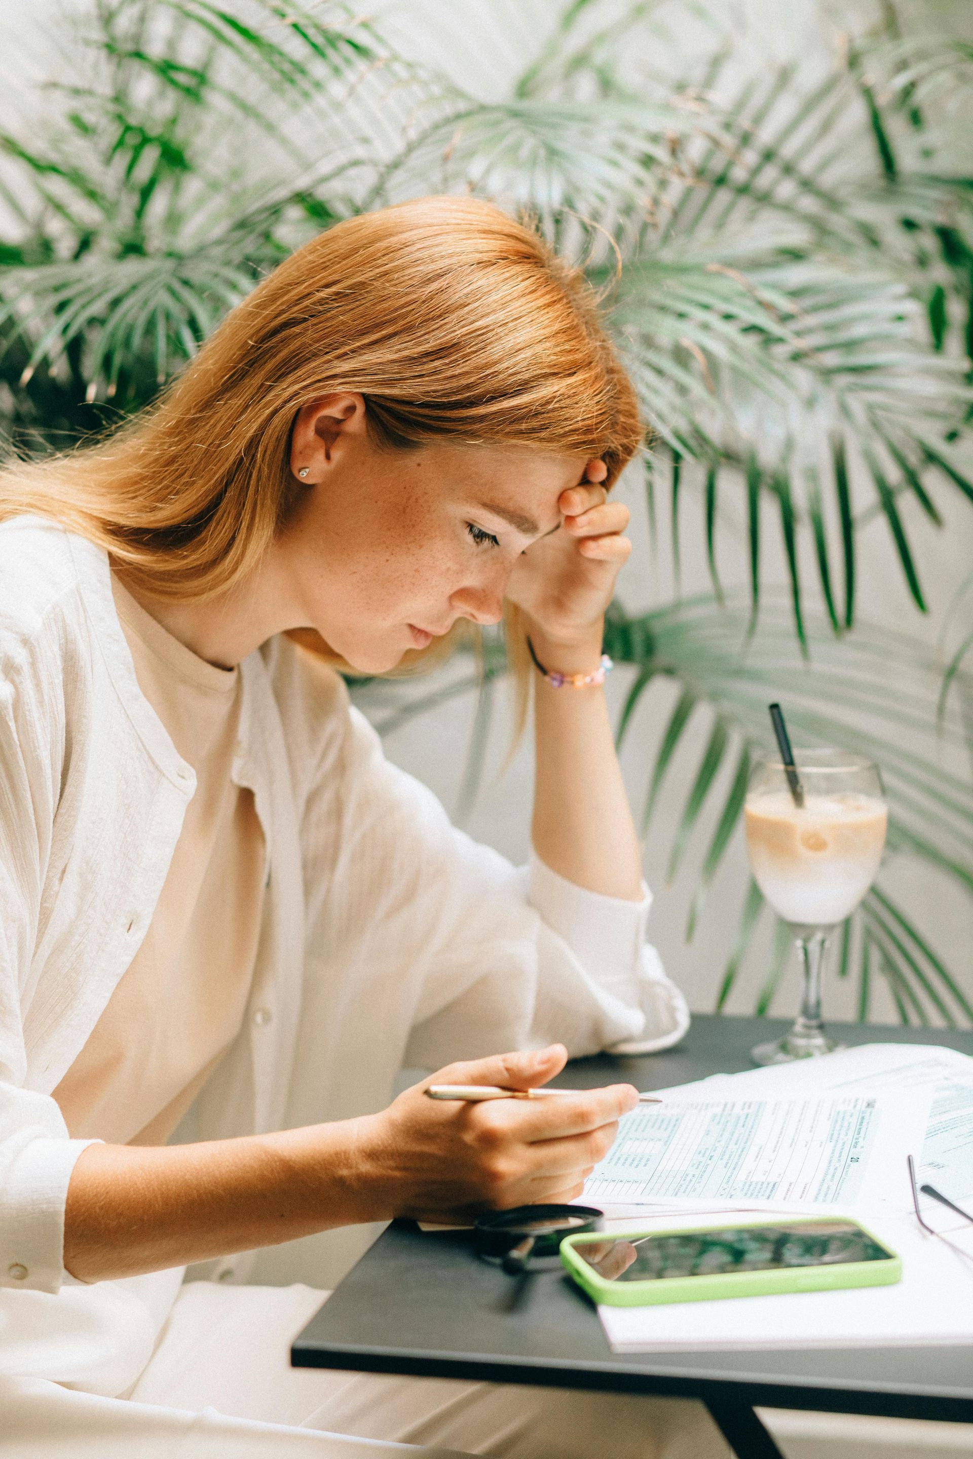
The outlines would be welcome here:
<svg viewBox="0 0 973 1459">
<path fill-rule="evenodd" d="M 557 1043 L 451 1064 L 379 1115 L 195 1145 L 82 1150 L 67 1188 L 64 1265 L 80 1281 L 184 1266 L 359 1221 L 569 1201 L 608 1151 L 630 1084 L 565 1099 L 427 1099 L 426 1085 L 531 1088 L 565 1067 Z"/>
</svg>

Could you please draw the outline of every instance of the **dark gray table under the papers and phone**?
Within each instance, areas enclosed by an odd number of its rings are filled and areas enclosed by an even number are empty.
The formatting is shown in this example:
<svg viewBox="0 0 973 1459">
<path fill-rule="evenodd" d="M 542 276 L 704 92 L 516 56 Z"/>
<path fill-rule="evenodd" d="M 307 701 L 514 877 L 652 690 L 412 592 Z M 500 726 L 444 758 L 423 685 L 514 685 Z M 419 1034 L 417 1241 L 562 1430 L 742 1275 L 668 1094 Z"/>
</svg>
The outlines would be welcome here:
<svg viewBox="0 0 973 1459">
<path fill-rule="evenodd" d="M 627 1080 L 640 1090 L 750 1068 L 785 1021 L 696 1015 L 684 1042 L 645 1056 L 576 1059 L 559 1083 Z M 833 1024 L 845 1043 L 944 1043 L 973 1033 Z M 740 1459 L 780 1459 L 754 1406 L 973 1423 L 973 1347 L 776 1348 L 616 1354 L 594 1306 L 560 1272 L 512 1280 L 477 1261 L 462 1231 L 394 1221 L 292 1347 L 296 1367 L 486 1379 L 699 1398 Z"/>
</svg>

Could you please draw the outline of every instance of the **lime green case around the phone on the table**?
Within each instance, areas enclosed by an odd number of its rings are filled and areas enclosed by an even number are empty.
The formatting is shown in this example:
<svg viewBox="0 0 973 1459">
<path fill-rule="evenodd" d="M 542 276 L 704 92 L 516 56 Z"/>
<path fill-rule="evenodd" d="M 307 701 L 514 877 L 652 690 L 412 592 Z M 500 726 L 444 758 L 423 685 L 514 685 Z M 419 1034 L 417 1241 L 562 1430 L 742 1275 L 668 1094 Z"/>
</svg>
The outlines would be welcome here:
<svg viewBox="0 0 973 1459">
<path fill-rule="evenodd" d="M 821 1217 L 821 1226 L 830 1221 L 845 1223 L 848 1217 Z M 773 1218 L 764 1217 L 754 1221 L 734 1221 L 734 1228 L 744 1226 L 773 1226 Z M 888 1243 L 862 1226 L 855 1223 L 878 1242 L 884 1250 Z M 712 1230 L 712 1226 L 671 1226 L 664 1231 L 652 1231 L 654 1236 L 690 1234 L 694 1231 Z M 888 1287 L 902 1278 L 902 1258 L 890 1253 L 888 1261 L 872 1262 L 843 1262 L 829 1266 L 788 1266 L 779 1271 L 751 1272 L 722 1272 L 709 1277 L 664 1277 L 654 1281 L 613 1282 L 605 1281 L 598 1272 L 578 1259 L 578 1247 L 589 1246 L 595 1242 L 630 1240 L 645 1236 L 646 1231 L 601 1231 L 585 1236 L 566 1236 L 560 1243 L 560 1259 L 570 1277 L 595 1301 L 607 1303 L 611 1307 L 649 1307 L 670 1301 L 713 1301 L 719 1297 L 767 1297 L 780 1291 L 836 1291 L 840 1287 Z"/>
</svg>

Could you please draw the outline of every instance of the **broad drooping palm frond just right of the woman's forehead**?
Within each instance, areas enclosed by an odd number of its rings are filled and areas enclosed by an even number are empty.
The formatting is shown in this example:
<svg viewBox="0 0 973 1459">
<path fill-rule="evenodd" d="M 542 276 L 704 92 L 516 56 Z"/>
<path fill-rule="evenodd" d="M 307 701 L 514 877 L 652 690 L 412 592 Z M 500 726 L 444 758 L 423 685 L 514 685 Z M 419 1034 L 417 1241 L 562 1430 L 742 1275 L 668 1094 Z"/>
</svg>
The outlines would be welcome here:
<svg viewBox="0 0 973 1459">
<path fill-rule="evenodd" d="M 877 512 L 885 516 L 909 589 L 925 608 L 897 503 L 915 495 L 938 522 L 934 498 L 944 479 L 969 496 L 963 473 L 945 457 L 939 465 L 926 436 L 954 433 L 972 395 L 961 362 L 922 346 L 919 306 L 903 285 L 813 260 L 748 263 L 724 249 L 675 261 L 662 252 L 624 270 L 613 318 L 648 419 L 674 460 L 696 463 L 696 481 L 705 484 L 713 570 L 716 481 L 728 471 L 743 481 L 754 614 L 760 499 L 769 496 L 798 639 L 804 597 L 795 538 L 808 525 L 839 629 L 821 483 L 830 483 L 837 503 L 843 624 L 853 620 L 852 500 L 861 503 L 862 524 Z M 677 540 L 675 498 L 672 515 Z"/>
</svg>

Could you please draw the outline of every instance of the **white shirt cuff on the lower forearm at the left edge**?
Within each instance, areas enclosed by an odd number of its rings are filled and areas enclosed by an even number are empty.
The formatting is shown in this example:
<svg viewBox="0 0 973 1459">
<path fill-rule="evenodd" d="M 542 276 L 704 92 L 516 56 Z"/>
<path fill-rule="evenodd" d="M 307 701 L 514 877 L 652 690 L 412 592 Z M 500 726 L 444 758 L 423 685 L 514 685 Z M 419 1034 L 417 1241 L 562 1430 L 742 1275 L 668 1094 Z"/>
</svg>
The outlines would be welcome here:
<svg viewBox="0 0 973 1459">
<path fill-rule="evenodd" d="M 0 1202 L 0 1288 L 57 1293 L 64 1280 L 64 1204 L 82 1150 L 98 1139 L 31 1139 Z"/>
</svg>

